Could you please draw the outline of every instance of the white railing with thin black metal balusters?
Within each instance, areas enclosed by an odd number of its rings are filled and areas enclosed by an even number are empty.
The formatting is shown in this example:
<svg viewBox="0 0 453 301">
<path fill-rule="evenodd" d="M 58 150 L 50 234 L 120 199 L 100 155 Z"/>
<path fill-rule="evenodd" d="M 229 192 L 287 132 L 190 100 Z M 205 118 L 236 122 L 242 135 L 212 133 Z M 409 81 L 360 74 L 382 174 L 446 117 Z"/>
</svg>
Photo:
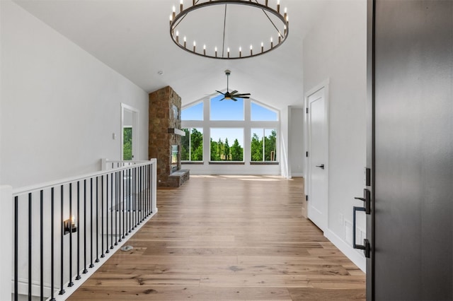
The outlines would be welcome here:
<svg viewBox="0 0 453 301">
<path fill-rule="evenodd" d="M 156 159 L 102 164 L 13 189 L 13 300 L 66 300 L 157 212 Z"/>
</svg>

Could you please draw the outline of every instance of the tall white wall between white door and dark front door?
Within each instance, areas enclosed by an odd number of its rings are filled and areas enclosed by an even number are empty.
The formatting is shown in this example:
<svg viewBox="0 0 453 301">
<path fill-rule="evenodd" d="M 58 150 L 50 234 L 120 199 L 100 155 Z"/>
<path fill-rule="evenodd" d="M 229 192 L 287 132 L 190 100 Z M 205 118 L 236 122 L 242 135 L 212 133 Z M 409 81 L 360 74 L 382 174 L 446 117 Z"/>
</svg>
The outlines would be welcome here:
<svg viewBox="0 0 453 301">
<path fill-rule="evenodd" d="M 362 252 L 353 250 L 352 240 L 345 239 L 345 234 L 352 237 L 345 233 L 345 222 L 352 224 L 352 206 L 363 206 L 354 197 L 362 196 L 365 188 L 366 5 L 360 0 L 330 1 L 304 39 L 303 53 L 305 93 L 330 79 L 328 230 L 324 234 L 364 270 Z M 365 218 L 358 225 L 365 230 Z"/>
</svg>

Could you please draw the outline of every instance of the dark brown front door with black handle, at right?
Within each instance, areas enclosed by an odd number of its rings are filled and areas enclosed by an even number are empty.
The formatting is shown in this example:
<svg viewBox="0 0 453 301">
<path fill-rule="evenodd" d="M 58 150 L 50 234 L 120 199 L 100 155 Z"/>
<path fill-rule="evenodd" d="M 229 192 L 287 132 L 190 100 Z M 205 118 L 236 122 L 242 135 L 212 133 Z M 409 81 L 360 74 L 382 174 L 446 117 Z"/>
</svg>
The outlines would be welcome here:
<svg viewBox="0 0 453 301">
<path fill-rule="evenodd" d="M 370 3 L 367 298 L 453 300 L 453 1 Z"/>
</svg>

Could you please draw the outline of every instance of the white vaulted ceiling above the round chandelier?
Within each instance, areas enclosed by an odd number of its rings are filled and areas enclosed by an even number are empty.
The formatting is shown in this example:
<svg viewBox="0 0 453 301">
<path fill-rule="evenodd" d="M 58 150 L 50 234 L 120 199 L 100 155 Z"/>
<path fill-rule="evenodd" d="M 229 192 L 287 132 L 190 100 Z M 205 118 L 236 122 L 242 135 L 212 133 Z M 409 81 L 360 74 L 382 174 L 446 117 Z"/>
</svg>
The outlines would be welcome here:
<svg viewBox="0 0 453 301">
<path fill-rule="evenodd" d="M 230 90 L 251 93 L 277 108 L 302 105 L 302 41 L 326 5 L 324 0 L 281 0 L 290 16 L 285 43 L 258 57 L 218 60 L 184 52 L 171 40 L 168 16 L 178 0 L 15 2 L 147 92 L 170 85 L 185 105 L 225 90 L 224 70 L 229 69 Z"/>
</svg>

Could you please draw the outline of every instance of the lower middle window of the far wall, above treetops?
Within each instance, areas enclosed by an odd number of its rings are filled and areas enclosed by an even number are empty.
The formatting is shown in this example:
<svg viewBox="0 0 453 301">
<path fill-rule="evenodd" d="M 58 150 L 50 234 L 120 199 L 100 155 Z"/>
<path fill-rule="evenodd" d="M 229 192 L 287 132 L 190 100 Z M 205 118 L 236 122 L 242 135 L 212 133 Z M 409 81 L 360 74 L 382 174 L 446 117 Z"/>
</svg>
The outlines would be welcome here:
<svg viewBox="0 0 453 301">
<path fill-rule="evenodd" d="M 211 161 L 243 161 L 243 129 L 211 129 Z"/>
</svg>

